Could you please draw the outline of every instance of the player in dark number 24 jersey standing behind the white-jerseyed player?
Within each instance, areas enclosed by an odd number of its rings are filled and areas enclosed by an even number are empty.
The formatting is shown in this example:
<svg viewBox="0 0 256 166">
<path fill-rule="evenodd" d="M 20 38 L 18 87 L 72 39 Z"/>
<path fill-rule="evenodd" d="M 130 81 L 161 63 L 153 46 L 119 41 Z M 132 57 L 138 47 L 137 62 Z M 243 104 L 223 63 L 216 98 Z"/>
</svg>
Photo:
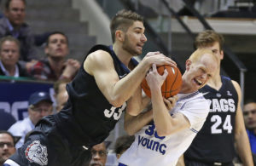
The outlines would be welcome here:
<svg viewBox="0 0 256 166">
<path fill-rule="evenodd" d="M 185 165 L 232 166 L 235 153 L 244 165 L 253 165 L 253 158 L 241 112 L 241 89 L 229 77 L 220 75 L 224 58 L 224 39 L 215 31 L 202 31 L 195 39 L 196 48 L 211 49 L 218 57 L 218 72 L 201 89 L 211 103 L 211 110 L 201 131 L 184 153 Z M 236 143 L 236 150 L 235 150 Z"/>
</svg>

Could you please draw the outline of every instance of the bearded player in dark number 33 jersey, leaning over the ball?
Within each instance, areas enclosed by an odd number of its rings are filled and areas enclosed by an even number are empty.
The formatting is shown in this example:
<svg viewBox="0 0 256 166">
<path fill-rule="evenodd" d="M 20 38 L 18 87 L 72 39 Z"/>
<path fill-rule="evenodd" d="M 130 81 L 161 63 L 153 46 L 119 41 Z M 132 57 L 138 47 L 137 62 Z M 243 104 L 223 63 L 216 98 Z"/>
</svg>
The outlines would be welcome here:
<svg viewBox="0 0 256 166">
<path fill-rule="evenodd" d="M 153 63 L 176 66 L 159 52 L 148 53 L 137 64 L 133 56 L 142 54 L 147 41 L 141 15 L 120 11 L 111 31 L 113 46 L 90 49 L 77 76 L 67 84 L 67 105 L 42 119 L 5 165 L 81 165 L 90 159 L 91 146 L 108 137 L 126 106 L 131 115 L 141 111 L 140 83 Z"/>
</svg>

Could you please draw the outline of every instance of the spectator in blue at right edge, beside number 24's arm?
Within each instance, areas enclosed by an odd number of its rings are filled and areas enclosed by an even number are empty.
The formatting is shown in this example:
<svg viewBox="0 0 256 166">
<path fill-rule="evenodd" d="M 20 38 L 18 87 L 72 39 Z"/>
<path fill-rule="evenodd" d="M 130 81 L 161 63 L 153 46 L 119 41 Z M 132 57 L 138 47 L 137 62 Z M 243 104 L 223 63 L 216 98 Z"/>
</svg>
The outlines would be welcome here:
<svg viewBox="0 0 256 166">
<path fill-rule="evenodd" d="M 243 106 L 243 117 L 250 140 L 251 150 L 256 154 L 256 101 L 246 101 Z"/>
</svg>

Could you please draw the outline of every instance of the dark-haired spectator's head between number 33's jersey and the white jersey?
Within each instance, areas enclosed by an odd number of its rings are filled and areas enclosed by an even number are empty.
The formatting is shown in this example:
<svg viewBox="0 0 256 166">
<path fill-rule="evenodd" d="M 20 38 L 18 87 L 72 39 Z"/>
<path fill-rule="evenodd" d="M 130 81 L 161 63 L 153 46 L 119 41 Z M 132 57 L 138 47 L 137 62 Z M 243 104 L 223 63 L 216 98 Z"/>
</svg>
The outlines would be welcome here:
<svg viewBox="0 0 256 166">
<path fill-rule="evenodd" d="M 114 152 L 118 159 L 131 146 L 134 139 L 134 135 L 123 135 L 115 141 Z"/>
</svg>

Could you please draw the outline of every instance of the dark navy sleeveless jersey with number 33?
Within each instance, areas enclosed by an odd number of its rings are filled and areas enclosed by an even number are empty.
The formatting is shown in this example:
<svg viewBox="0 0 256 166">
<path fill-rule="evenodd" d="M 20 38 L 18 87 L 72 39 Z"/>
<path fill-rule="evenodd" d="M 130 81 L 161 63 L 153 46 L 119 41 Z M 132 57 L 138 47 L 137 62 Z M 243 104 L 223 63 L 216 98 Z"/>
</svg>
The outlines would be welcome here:
<svg viewBox="0 0 256 166">
<path fill-rule="evenodd" d="M 130 72 L 114 54 L 112 46 L 96 45 L 88 54 L 99 49 L 111 54 L 120 79 Z M 137 60 L 133 58 L 131 63 L 137 66 Z M 58 129 L 79 146 L 93 146 L 105 140 L 125 111 L 126 103 L 114 107 L 108 102 L 98 89 L 95 78 L 84 71 L 83 65 L 73 81 L 67 84 L 67 93 L 67 105 L 55 115 L 55 119 Z"/>
</svg>

